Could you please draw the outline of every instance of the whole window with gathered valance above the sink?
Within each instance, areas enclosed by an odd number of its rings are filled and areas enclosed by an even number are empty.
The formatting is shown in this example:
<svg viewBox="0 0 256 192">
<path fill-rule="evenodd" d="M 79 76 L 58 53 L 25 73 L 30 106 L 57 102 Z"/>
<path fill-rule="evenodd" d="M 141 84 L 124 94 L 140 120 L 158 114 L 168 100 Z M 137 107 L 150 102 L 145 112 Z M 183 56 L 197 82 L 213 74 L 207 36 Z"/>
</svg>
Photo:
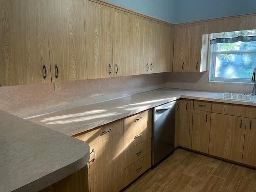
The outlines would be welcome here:
<svg viewBox="0 0 256 192">
<path fill-rule="evenodd" d="M 248 38 L 248 33 L 256 35 L 256 30 L 210 34 L 210 81 L 252 83 L 256 36 Z"/>
</svg>

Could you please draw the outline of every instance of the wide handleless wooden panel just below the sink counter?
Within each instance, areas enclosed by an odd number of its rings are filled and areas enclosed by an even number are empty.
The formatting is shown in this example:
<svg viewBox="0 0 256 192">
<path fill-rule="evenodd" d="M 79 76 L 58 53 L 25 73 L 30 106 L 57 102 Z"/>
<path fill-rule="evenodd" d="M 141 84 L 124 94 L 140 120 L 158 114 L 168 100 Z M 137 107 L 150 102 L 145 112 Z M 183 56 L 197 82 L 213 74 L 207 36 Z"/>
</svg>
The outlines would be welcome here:
<svg viewBox="0 0 256 192">
<path fill-rule="evenodd" d="M 212 112 L 240 117 L 256 118 L 255 106 L 213 102 Z"/>
</svg>

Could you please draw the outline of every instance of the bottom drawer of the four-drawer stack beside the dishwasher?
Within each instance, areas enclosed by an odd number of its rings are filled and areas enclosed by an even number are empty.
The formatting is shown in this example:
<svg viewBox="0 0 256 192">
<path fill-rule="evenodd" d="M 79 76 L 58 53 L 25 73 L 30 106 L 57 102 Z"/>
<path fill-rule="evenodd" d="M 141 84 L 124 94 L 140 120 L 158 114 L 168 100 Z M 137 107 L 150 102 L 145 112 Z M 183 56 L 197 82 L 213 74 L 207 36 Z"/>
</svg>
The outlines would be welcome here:
<svg viewBox="0 0 256 192">
<path fill-rule="evenodd" d="M 143 158 L 124 170 L 124 186 L 130 184 L 138 176 L 151 167 L 151 153 L 146 154 Z"/>
</svg>

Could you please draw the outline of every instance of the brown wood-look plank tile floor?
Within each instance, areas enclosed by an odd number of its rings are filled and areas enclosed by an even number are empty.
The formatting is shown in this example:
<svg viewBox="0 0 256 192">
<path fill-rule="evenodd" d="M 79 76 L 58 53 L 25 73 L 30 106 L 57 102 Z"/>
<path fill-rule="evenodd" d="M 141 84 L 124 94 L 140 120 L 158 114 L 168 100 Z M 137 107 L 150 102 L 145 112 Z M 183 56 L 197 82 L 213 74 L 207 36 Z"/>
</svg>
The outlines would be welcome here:
<svg viewBox="0 0 256 192">
<path fill-rule="evenodd" d="M 177 149 L 123 191 L 256 192 L 256 170 Z"/>
</svg>

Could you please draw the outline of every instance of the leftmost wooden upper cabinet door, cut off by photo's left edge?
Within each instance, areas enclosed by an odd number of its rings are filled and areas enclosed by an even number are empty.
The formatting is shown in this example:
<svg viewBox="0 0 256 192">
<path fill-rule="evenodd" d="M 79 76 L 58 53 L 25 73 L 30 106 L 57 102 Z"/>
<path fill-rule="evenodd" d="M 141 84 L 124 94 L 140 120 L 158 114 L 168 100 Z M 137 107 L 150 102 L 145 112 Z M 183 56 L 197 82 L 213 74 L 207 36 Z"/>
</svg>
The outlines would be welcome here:
<svg viewBox="0 0 256 192">
<path fill-rule="evenodd" d="M 0 86 L 51 82 L 47 5 L 0 0 Z"/>
</svg>

